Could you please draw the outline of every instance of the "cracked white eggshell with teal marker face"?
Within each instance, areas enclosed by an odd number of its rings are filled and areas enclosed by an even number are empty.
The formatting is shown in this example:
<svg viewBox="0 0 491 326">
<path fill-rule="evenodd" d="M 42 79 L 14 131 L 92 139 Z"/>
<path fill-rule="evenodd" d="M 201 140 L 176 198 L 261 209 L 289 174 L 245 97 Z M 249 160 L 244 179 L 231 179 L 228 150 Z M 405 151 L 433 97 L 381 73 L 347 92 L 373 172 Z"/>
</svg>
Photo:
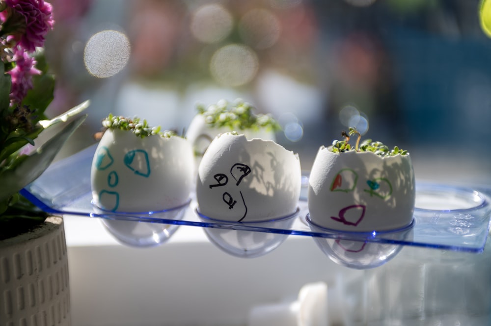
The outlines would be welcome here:
<svg viewBox="0 0 491 326">
<path fill-rule="evenodd" d="M 191 144 L 182 137 L 108 129 L 92 160 L 93 202 L 120 212 L 174 208 L 188 201 L 193 169 Z"/>
</svg>

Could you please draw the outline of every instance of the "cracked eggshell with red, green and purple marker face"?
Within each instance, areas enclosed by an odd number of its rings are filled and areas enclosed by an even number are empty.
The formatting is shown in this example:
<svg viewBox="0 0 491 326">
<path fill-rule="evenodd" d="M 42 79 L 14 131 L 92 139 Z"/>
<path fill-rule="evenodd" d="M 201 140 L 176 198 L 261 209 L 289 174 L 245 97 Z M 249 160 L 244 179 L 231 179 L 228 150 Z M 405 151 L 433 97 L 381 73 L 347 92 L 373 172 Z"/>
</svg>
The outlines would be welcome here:
<svg viewBox="0 0 491 326">
<path fill-rule="evenodd" d="M 415 201 L 414 171 L 407 155 L 381 157 L 321 147 L 308 185 L 310 220 L 343 231 L 382 231 L 409 226 Z"/>
</svg>

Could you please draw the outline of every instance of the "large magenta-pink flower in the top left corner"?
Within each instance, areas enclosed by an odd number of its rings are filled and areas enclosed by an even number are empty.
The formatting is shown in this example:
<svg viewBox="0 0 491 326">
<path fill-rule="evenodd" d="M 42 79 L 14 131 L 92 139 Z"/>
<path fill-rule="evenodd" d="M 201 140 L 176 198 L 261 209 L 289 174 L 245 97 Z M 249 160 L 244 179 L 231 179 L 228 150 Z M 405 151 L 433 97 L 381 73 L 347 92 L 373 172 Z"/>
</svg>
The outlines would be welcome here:
<svg viewBox="0 0 491 326">
<path fill-rule="evenodd" d="M 55 23 L 51 4 L 44 0 L 5 0 L 5 4 L 12 9 L 14 15 L 21 15 L 25 19 L 26 29 L 20 35 L 18 45 L 29 52 L 42 47 L 46 34 L 53 29 Z M 5 21 L 6 17 L 2 16 L 1 19 Z"/>
</svg>

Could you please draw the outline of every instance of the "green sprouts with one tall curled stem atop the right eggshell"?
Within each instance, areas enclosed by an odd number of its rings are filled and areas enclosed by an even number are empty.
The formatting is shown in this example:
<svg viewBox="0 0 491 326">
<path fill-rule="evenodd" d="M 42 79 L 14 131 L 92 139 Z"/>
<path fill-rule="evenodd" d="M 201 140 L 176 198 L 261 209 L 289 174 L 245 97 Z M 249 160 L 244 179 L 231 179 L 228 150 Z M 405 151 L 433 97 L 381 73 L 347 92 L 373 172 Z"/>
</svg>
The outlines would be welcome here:
<svg viewBox="0 0 491 326">
<path fill-rule="evenodd" d="M 350 138 L 356 135 L 356 143 L 355 148 L 348 143 Z M 334 153 L 341 153 L 348 150 L 356 150 L 356 151 L 371 151 L 379 156 L 394 156 L 397 154 L 407 155 L 407 150 L 402 150 L 399 147 L 395 146 L 394 149 L 390 150 L 386 145 L 382 142 L 374 142 L 371 139 L 365 139 L 360 144 L 361 134 L 356 130 L 355 127 L 350 127 L 348 133 L 346 131 L 341 132 L 341 136 L 343 136 L 344 140 L 334 140 L 332 142 L 332 146 L 330 147 L 331 151 Z"/>
</svg>

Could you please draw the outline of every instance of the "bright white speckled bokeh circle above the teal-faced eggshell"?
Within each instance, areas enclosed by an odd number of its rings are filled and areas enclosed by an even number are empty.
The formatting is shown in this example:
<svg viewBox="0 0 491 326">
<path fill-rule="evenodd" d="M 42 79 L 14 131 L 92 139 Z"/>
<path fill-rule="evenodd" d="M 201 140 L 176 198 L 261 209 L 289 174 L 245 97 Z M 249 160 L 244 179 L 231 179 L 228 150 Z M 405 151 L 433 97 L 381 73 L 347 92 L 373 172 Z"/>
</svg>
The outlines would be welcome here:
<svg viewBox="0 0 491 326">
<path fill-rule="evenodd" d="M 83 62 L 90 75 L 107 78 L 126 66 L 130 53 L 130 41 L 124 33 L 103 30 L 92 35 L 85 44 Z"/>
</svg>

